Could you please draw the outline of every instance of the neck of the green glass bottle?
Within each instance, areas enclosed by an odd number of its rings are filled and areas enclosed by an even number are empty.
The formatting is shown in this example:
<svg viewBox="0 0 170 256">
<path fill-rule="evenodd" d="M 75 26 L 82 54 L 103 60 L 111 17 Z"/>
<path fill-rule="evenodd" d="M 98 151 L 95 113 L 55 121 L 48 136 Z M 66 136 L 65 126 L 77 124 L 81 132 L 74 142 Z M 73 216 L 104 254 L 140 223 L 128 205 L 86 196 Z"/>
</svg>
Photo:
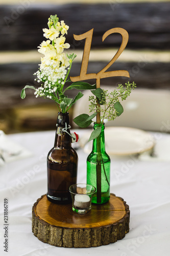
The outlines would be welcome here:
<svg viewBox="0 0 170 256">
<path fill-rule="evenodd" d="M 94 123 L 93 129 L 97 129 L 98 127 L 101 127 L 101 133 L 100 135 L 93 140 L 93 147 L 92 147 L 92 151 L 95 153 L 99 153 L 99 152 L 105 152 L 105 125 L 104 124 L 98 124 L 98 123 Z"/>
</svg>

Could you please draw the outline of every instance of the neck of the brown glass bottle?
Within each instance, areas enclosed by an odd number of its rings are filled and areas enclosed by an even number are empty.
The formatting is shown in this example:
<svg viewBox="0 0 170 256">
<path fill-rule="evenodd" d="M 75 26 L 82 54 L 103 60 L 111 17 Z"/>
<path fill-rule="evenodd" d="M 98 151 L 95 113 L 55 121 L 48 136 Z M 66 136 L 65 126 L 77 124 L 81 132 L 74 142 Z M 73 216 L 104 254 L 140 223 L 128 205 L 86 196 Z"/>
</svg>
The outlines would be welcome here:
<svg viewBox="0 0 170 256">
<path fill-rule="evenodd" d="M 69 115 L 68 113 L 58 113 L 57 118 L 57 130 L 54 147 L 57 149 L 69 149 L 71 147 L 71 137 L 63 129 L 69 127 Z M 66 130 L 70 133 L 69 129 Z"/>
</svg>

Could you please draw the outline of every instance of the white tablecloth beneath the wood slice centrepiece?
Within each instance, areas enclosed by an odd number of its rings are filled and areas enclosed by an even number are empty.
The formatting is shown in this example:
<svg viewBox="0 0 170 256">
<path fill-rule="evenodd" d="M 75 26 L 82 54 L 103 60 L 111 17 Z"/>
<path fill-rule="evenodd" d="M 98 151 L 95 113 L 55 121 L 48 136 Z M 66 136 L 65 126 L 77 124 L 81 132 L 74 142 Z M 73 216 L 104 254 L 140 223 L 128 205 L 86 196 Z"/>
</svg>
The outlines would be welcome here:
<svg viewBox="0 0 170 256">
<path fill-rule="evenodd" d="M 60 248 L 39 241 L 32 233 L 32 206 L 47 191 L 46 155 L 55 131 L 8 135 L 33 153 L 0 166 L 0 255 L 166 256 L 170 242 L 170 161 L 111 157 L 111 193 L 130 207 L 130 232 L 114 244 L 94 248 Z M 157 143 L 170 138 L 161 134 Z M 86 182 L 87 154 L 79 156 L 78 182 Z M 169 147 L 170 154 L 170 147 Z M 9 204 L 8 252 L 4 251 L 4 199 Z"/>
</svg>

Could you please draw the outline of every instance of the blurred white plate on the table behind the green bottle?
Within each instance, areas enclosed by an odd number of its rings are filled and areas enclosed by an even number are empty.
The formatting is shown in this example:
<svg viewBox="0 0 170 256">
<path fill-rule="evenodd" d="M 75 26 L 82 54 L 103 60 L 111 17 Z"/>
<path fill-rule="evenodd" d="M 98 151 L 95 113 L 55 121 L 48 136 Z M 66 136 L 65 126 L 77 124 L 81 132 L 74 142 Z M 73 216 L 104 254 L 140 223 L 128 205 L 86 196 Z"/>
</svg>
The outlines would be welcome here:
<svg viewBox="0 0 170 256">
<path fill-rule="evenodd" d="M 90 153 L 92 141 L 88 142 L 91 131 L 80 139 L 84 152 Z M 105 146 L 108 155 L 126 156 L 141 154 L 152 150 L 155 145 L 153 136 L 145 131 L 131 127 L 105 127 Z"/>
</svg>

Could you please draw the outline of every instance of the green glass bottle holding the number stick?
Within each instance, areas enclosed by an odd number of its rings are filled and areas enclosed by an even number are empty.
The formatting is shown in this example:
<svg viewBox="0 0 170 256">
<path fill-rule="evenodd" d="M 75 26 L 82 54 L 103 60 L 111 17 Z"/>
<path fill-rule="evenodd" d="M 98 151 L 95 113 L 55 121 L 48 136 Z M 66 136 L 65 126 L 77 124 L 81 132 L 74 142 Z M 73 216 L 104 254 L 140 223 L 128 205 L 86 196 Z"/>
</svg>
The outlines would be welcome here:
<svg viewBox="0 0 170 256">
<path fill-rule="evenodd" d="M 106 203 L 110 198 L 110 157 L 105 151 L 104 124 L 94 123 L 93 129 L 101 126 L 101 134 L 93 140 L 92 152 L 87 157 L 87 184 L 96 188 L 92 203 Z"/>
</svg>

